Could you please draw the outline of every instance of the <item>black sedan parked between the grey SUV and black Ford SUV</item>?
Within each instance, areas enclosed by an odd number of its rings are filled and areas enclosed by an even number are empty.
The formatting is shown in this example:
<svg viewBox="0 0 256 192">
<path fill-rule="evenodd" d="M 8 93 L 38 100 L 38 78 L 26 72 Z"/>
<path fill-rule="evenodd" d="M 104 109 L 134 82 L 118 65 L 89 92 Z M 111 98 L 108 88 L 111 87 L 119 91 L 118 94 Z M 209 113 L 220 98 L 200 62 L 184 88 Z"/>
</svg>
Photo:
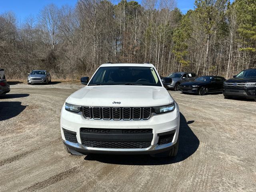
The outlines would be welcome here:
<svg viewBox="0 0 256 192">
<path fill-rule="evenodd" d="M 220 76 L 202 76 L 191 82 L 180 84 L 180 91 L 205 95 L 207 93 L 222 92 L 223 82 L 226 79 Z"/>
</svg>

